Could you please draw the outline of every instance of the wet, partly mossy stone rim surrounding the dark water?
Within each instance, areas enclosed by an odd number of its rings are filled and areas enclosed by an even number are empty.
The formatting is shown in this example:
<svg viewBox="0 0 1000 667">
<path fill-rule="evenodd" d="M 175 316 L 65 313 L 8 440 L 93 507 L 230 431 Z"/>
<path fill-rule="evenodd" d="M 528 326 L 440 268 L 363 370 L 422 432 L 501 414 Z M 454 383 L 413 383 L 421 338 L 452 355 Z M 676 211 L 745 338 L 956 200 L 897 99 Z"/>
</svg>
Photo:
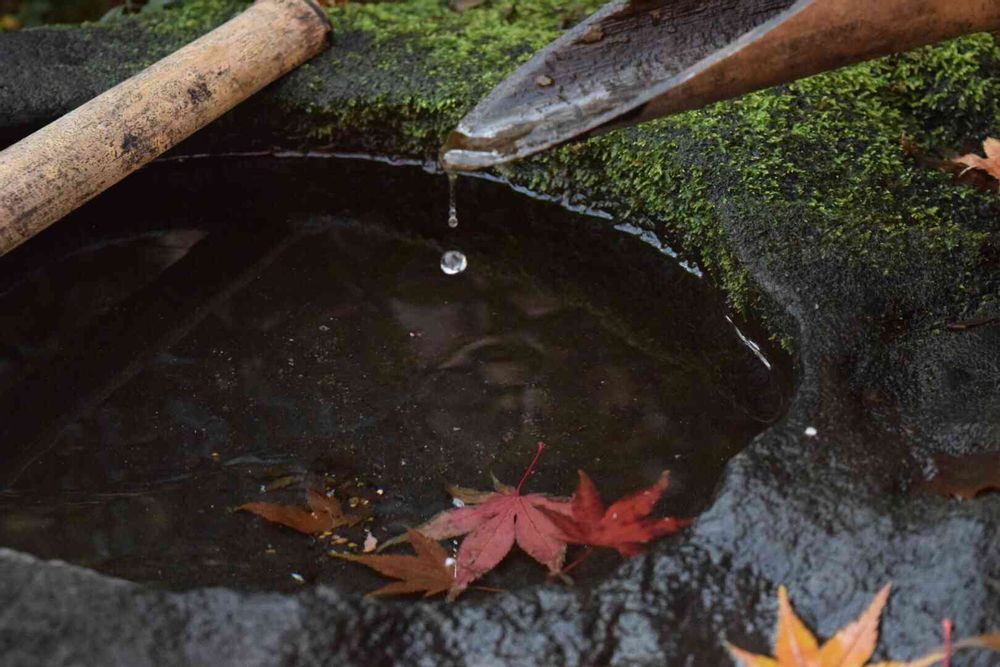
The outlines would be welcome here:
<svg viewBox="0 0 1000 667">
<path fill-rule="evenodd" d="M 232 14 L 188 2 L 138 20 L 0 37 L 0 136 L 68 110 Z M 182 147 L 364 150 L 424 159 L 581 3 L 350 5 L 329 53 Z M 505 172 L 655 229 L 800 365 L 784 420 L 732 460 L 695 528 L 589 594 L 476 604 L 165 594 L 0 552 L 4 664 L 724 664 L 763 650 L 778 583 L 821 635 L 884 582 L 881 652 L 1000 627 L 1000 498 L 910 495 L 937 453 L 1000 443 L 1000 200 L 903 150 L 1000 132 L 1000 48 L 974 36 L 562 149 Z M 817 429 L 816 437 L 804 435 Z M 996 664 L 969 657 L 964 664 Z"/>
</svg>

